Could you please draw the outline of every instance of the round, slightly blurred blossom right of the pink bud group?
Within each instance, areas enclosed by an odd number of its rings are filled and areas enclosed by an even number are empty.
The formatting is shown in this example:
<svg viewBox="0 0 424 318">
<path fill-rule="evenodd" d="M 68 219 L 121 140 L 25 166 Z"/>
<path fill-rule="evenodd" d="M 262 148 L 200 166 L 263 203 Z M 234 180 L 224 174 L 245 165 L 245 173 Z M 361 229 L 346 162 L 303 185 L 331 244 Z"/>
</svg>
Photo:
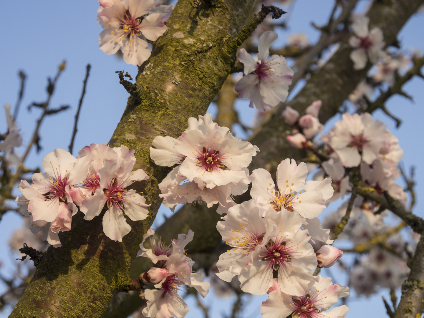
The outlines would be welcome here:
<svg viewBox="0 0 424 318">
<path fill-rule="evenodd" d="M 385 125 L 369 113 L 344 113 L 329 133 L 329 145 L 345 167 L 357 167 L 361 160 L 371 165 L 385 145 Z"/>
</svg>

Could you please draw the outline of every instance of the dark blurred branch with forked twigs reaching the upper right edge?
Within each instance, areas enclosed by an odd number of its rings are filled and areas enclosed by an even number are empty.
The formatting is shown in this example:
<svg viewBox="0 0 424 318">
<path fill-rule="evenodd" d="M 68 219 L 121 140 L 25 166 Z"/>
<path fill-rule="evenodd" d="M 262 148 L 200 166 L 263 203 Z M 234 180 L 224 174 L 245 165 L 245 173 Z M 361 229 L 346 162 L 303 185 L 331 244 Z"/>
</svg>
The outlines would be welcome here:
<svg viewBox="0 0 424 318">
<path fill-rule="evenodd" d="M 402 95 L 410 100 L 412 100 L 412 97 L 408 95 L 404 90 L 402 89 L 402 86 L 409 81 L 411 78 L 413 78 L 415 75 L 421 77 L 424 79 L 423 74 L 421 73 L 421 67 L 424 65 L 424 56 L 421 58 L 414 58 L 413 59 L 414 66 L 407 71 L 407 73 L 401 77 L 399 77 L 395 82 L 395 84 L 385 92 L 381 92 L 380 96 L 372 103 L 368 103 L 368 107 L 366 109 L 367 112 L 372 113 L 376 109 L 381 109 L 385 114 L 387 114 L 389 117 L 393 118 L 396 121 L 396 127 L 399 127 L 399 125 L 402 123 L 402 121 L 391 114 L 385 106 L 386 101 L 391 98 L 395 94 Z"/>
</svg>

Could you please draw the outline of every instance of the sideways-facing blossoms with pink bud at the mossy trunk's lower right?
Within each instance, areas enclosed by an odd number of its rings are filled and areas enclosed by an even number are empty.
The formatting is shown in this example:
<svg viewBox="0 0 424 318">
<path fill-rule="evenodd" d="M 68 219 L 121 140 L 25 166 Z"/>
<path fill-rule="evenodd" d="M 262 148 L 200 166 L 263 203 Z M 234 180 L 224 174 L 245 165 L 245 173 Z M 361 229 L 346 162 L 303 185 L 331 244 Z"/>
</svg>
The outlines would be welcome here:
<svg viewBox="0 0 424 318">
<path fill-rule="evenodd" d="M 153 237 L 152 237 L 153 235 Z M 146 307 L 142 310 L 145 317 L 185 317 L 188 306 L 178 294 L 179 290 L 194 287 L 205 297 L 210 283 L 202 282 L 200 273 L 193 273 L 194 262 L 185 254 L 185 246 L 193 239 L 194 233 L 179 234 L 178 239 L 172 240 L 172 248 L 155 240 L 153 229 L 148 229 L 140 244 L 138 256 L 148 257 L 155 264 L 149 271 L 141 275 L 147 284 L 153 284 L 156 289 L 145 289 Z M 145 240 L 150 237 L 151 248 L 145 248 Z"/>
</svg>

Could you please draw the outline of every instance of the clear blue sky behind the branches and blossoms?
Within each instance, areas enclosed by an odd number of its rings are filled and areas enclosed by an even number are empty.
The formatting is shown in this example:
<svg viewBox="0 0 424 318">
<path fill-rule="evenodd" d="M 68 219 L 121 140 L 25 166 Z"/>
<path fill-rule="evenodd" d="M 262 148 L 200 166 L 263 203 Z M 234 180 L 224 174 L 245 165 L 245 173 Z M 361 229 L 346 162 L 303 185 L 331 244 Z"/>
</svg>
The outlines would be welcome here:
<svg viewBox="0 0 424 318">
<path fill-rule="evenodd" d="M 284 45 L 290 33 L 304 32 L 310 42 L 318 39 L 319 33 L 310 25 L 313 21 L 317 25 L 323 25 L 328 19 L 334 0 L 298 0 L 289 8 L 289 29 L 279 31 L 279 43 Z M 365 3 L 361 5 L 363 8 Z M 123 60 L 115 56 L 108 56 L 98 48 L 98 34 L 101 27 L 96 21 L 98 3 L 92 1 L 53 1 L 42 2 L 25 1 L 17 10 L 16 3 L 3 3 L 3 25 L 7 25 L 7 31 L 3 36 L 0 46 L 0 104 L 14 103 L 17 100 L 19 79 L 17 73 L 24 70 L 28 76 L 25 96 L 22 101 L 17 122 L 22 129 L 24 145 L 31 138 L 35 119 L 39 116 L 37 109 L 28 112 L 26 106 L 33 101 L 43 101 L 46 98 L 45 87 L 47 76 L 56 74 L 57 66 L 63 59 L 67 61 L 67 68 L 61 75 L 53 95 L 51 105 L 70 105 L 71 109 L 58 115 L 48 117 L 42 124 L 40 135 L 42 137 L 42 151 L 36 154 L 31 151 L 27 165 L 40 167 L 42 158 L 46 153 L 55 148 L 67 148 L 72 134 L 73 117 L 78 106 L 81 94 L 82 81 L 85 75 L 85 66 L 91 64 L 91 73 L 87 85 L 87 93 L 82 107 L 78 134 L 75 139 L 74 154 L 92 142 L 107 142 L 112 136 L 114 128 L 119 122 L 120 116 L 126 106 L 128 93 L 119 84 L 115 71 L 128 71 L 133 77 L 137 74 L 137 67 L 127 65 Z M 25 21 L 17 19 L 17 13 L 25 17 Z M 424 29 L 423 13 L 414 15 L 399 34 L 404 48 L 419 49 L 424 51 L 424 41 L 421 31 Z M 377 112 L 375 117 L 388 125 L 388 128 L 399 138 L 400 145 L 405 151 L 402 160 L 405 167 L 415 165 L 416 169 L 416 192 L 418 203 L 415 212 L 423 216 L 423 204 L 420 200 L 424 193 L 423 182 L 424 168 L 420 165 L 423 158 L 421 135 L 424 132 L 424 81 L 414 78 L 405 87 L 415 102 L 396 96 L 389 100 L 388 109 L 396 116 L 402 118 L 403 123 L 399 129 L 394 127 L 393 121 L 385 114 Z M 248 101 L 239 100 L 237 110 L 245 123 L 251 123 L 255 111 L 248 108 Z M 214 107 L 211 106 L 211 112 Z M 329 124 L 334 123 L 330 121 Z M 328 125 L 327 125 L 328 126 Z M 0 131 L 5 131 L 5 118 L 3 110 L 0 110 Z M 235 127 L 235 134 L 243 136 L 239 127 Z M 21 150 L 22 151 L 22 150 Z M 330 206 L 328 212 L 336 209 Z M 162 214 L 170 213 L 169 209 L 162 208 Z M 325 213 L 325 211 L 324 211 Z M 159 216 L 156 224 L 162 217 Z M 16 255 L 11 255 L 8 247 L 8 238 L 11 233 L 21 226 L 20 215 L 9 212 L 3 216 L 0 222 L 0 259 L 3 266 L 0 273 L 7 276 L 11 273 Z M 336 275 L 339 283 L 345 283 L 346 277 Z M 2 293 L 2 287 L 0 287 Z M 382 290 L 383 295 L 388 297 L 388 291 Z M 381 295 L 380 294 L 380 295 Z M 229 312 L 231 300 L 221 299 L 209 294 L 204 300 L 205 304 L 213 307 L 210 313 L 212 317 L 221 316 L 222 312 Z M 350 312 L 347 317 L 367 313 L 375 318 L 386 317 L 381 296 L 375 295 L 370 298 L 349 299 Z M 265 296 L 254 296 L 243 307 L 243 316 L 247 318 L 260 317 L 259 306 Z M 199 317 L 201 313 L 189 301 L 191 308 L 187 317 Z M 6 317 L 11 309 L 6 308 L 0 317 Z"/>
</svg>

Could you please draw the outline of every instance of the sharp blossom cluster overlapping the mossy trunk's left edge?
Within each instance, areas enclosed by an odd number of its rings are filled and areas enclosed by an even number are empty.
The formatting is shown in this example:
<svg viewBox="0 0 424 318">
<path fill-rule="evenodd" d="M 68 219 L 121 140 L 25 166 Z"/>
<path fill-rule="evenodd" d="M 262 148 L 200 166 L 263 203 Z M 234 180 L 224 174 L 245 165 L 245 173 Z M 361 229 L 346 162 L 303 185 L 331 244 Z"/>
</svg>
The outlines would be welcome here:
<svg viewBox="0 0 424 318">
<path fill-rule="evenodd" d="M 145 198 L 126 189 L 134 181 L 149 177 L 142 169 L 135 171 L 134 150 L 126 146 L 110 148 L 105 143 L 82 148 L 75 158 L 64 149 L 55 149 L 43 159 L 45 173 L 34 173 L 32 184 L 21 180 L 18 206 L 28 216 L 28 228 L 34 234 L 42 231 L 42 239 L 61 246 L 59 231 L 71 230 L 72 217 L 78 207 L 92 220 L 106 204 L 103 232 L 111 240 L 122 242 L 131 231 L 125 213 L 131 220 L 148 216 Z"/>
</svg>

